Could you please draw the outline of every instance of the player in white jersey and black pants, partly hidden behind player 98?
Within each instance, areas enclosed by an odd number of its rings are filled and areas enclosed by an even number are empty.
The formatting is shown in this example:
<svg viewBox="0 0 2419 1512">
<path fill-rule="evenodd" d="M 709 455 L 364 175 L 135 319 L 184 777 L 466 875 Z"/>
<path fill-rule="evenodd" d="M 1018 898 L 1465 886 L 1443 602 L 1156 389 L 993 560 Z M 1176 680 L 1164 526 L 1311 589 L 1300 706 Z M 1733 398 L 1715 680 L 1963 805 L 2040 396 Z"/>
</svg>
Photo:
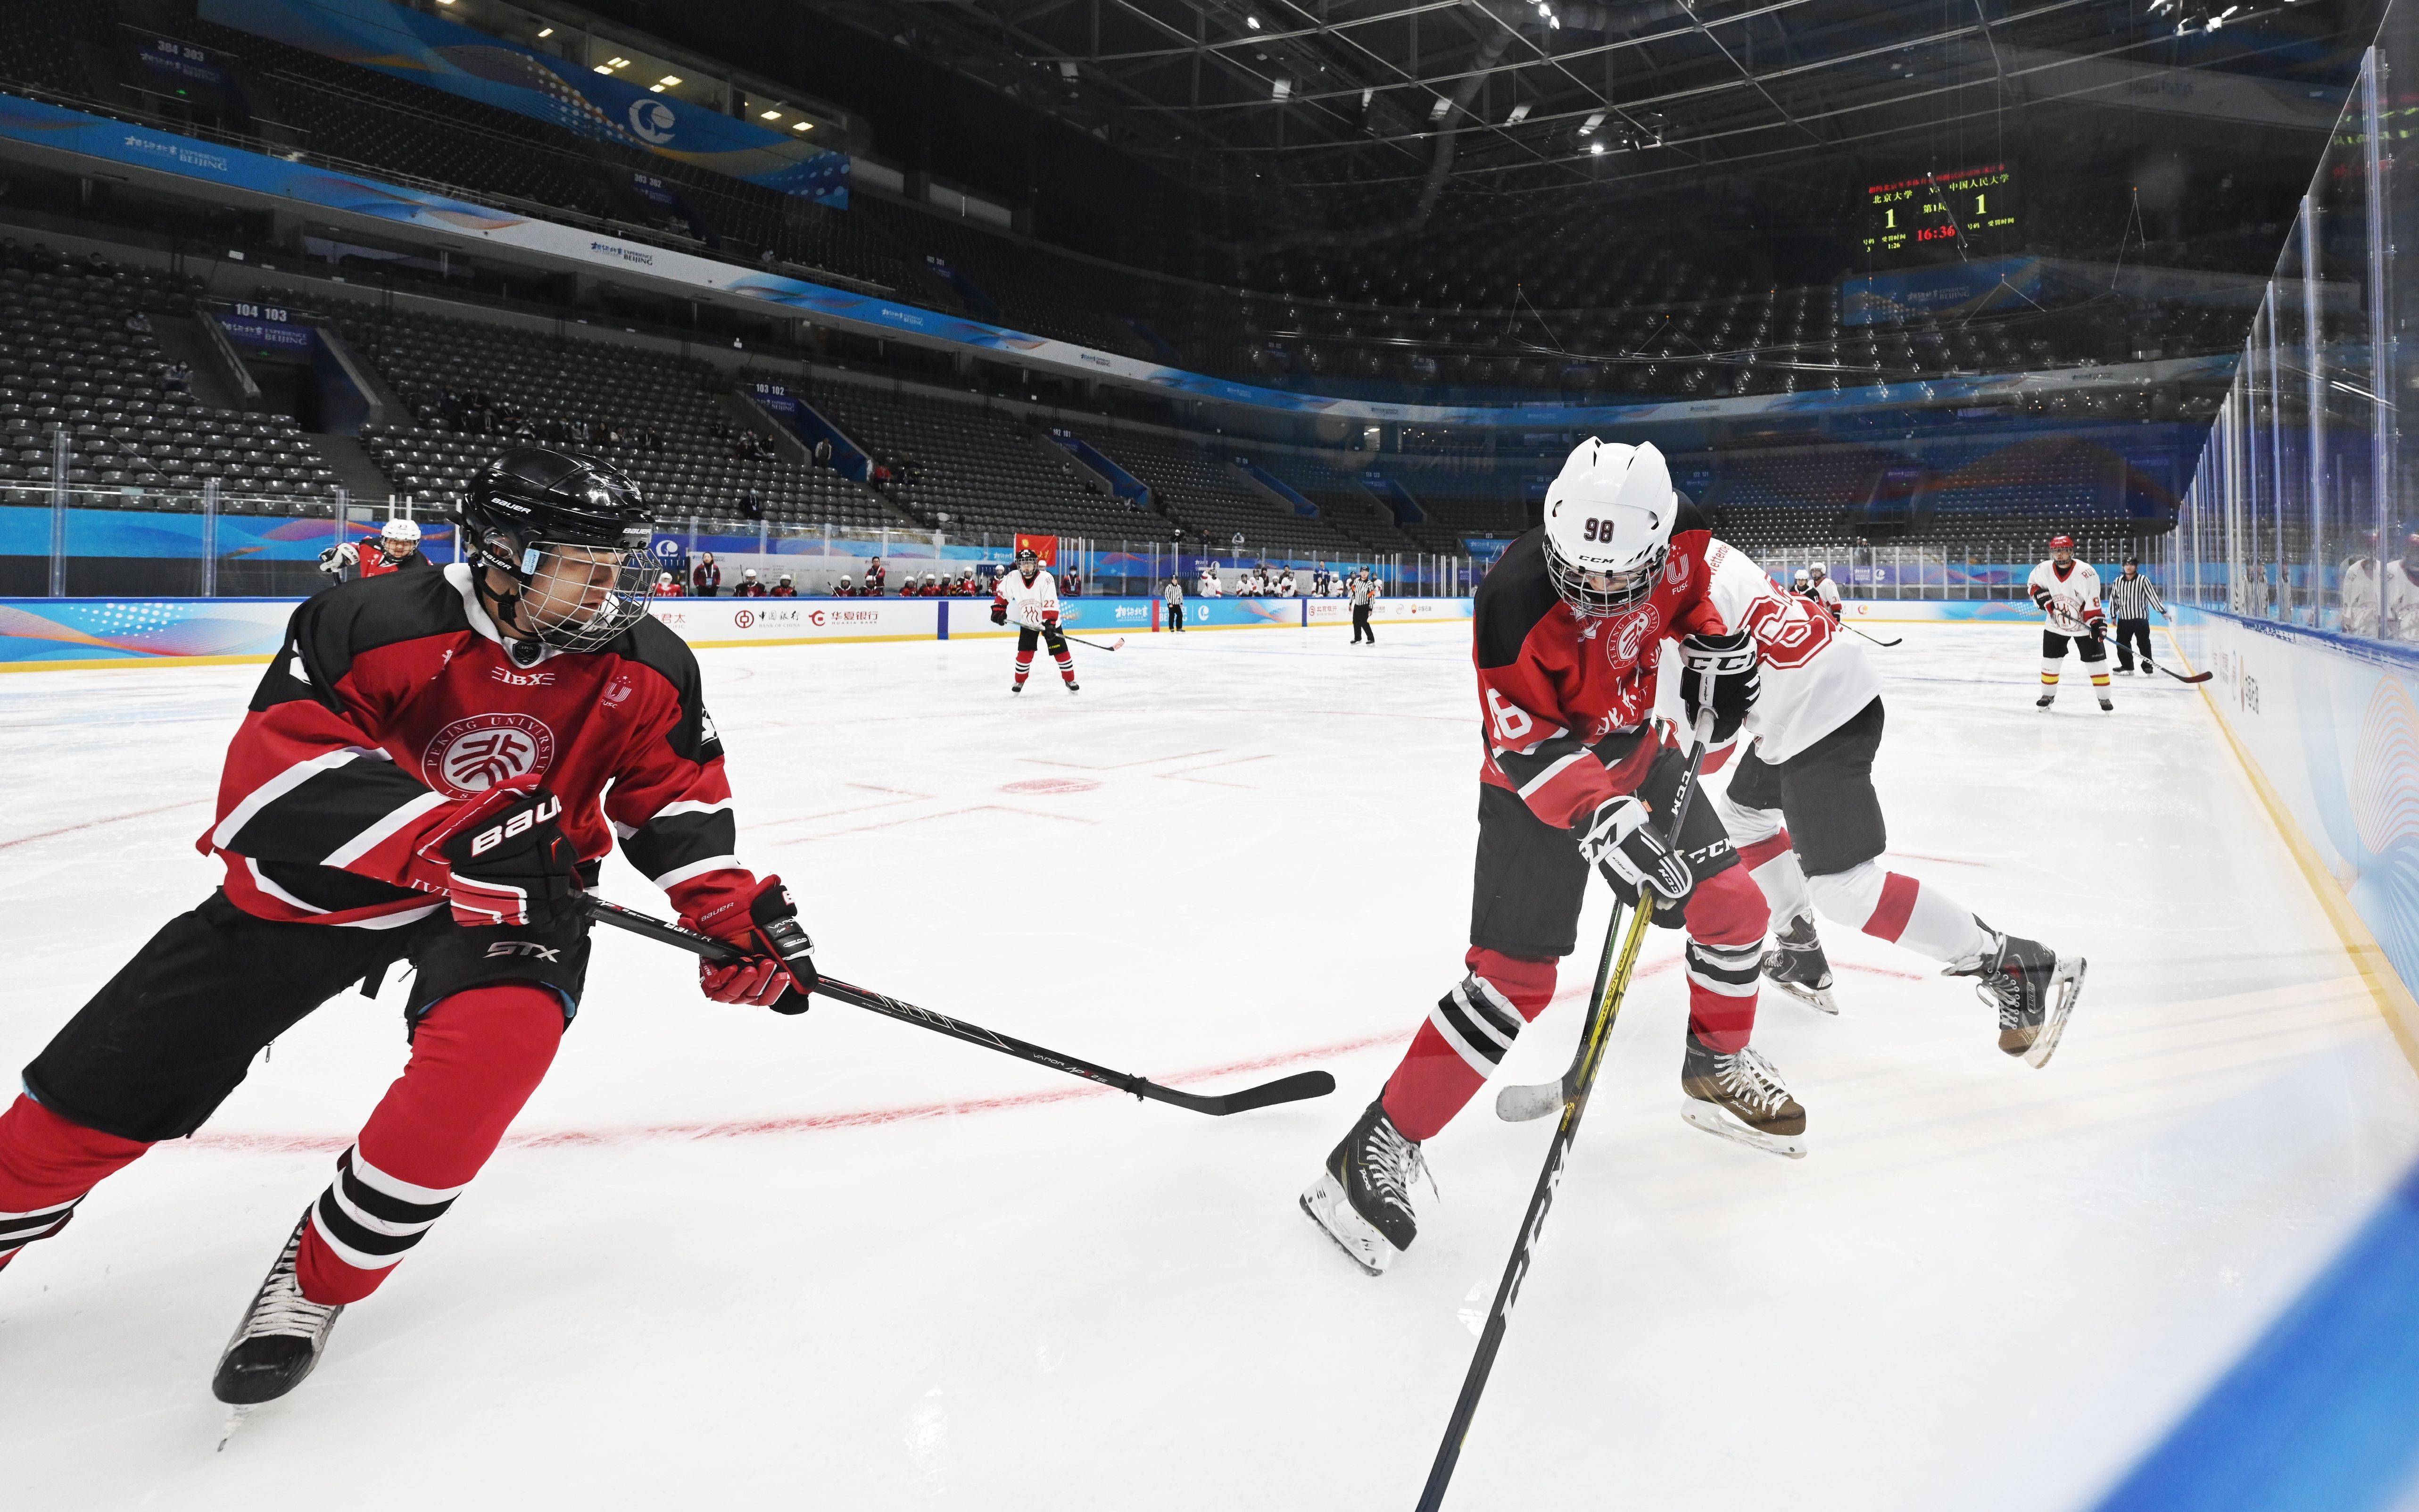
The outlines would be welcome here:
<svg viewBox="0 0 2419 1512">
<path fill-rule="evenodd" d="M 1838 1011 L 1814 931 L 1822 912 L 1930 956 L 1947 975 L 1976 977 L 1998 1014 L 1998 1048 L 2049 1064 L 2083 989 L 2083 958 L 2001 934 L 1940 888 L 1882 868 L 1889 835 L 1872 786 L 1884 719 L 1880 673 L 1819 605 L 1773 588 L 1744 552 L 1713 542 L 1705 559 L 1720 622 L 1754 639 L 1759 663 L 1730 789 L 1713 803 L 1773 910 L 1766 980 L 1824 1014 Z M 1684 673 L 1684 689 L 1688 677 L 1696 673 Z M 1730 755 L 1708 757 L 1708 769 Z"/>
</svg>

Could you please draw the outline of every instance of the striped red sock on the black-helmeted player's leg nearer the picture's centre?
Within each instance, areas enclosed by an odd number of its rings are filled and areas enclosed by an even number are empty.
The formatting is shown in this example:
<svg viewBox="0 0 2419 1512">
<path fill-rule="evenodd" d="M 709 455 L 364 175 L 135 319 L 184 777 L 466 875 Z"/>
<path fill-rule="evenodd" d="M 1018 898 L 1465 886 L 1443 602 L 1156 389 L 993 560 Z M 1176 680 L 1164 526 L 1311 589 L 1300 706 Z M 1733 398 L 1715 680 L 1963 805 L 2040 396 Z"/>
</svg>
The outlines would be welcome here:
<svg viewBox="0 0 2419 1512">
<path fill-rule="evenodd" d="M 561 999 L 527 982 L 428 1009 L 411 1062 L 310 1210 L 295 1260 L 302 1294 L 327 1306 L 375 1292 L 496 1154 L 561 1038 Z"/>
</svg>

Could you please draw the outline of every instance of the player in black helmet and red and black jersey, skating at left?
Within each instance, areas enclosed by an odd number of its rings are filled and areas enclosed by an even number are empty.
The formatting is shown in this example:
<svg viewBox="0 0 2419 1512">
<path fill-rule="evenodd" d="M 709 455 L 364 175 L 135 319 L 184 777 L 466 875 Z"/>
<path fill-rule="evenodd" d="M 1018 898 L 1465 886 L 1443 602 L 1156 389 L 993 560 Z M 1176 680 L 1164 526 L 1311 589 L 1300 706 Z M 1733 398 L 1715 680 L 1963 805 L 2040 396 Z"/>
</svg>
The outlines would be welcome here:
<svg viewBox="0 0 2419 1512">
<path fill-rule="evenodd" d="M 0 1115 L 0 1263 L 201 1127 L 269 1040 L 411 960 L 409 1064 L 218 1360 L 225 1403 L 290 1391 L 547 1074 L 588 970 L 578 893 L 614 835 L 687 927 L 745 951 L 699 970 L 706 997 L 806 1009 L 810 943 L 779 878 L 735 859 L 697 658 L 646 614 L 648 525 L 612 467 L 513 450 L 472 484 L 462 561 L 295 610 L 198 839 L 220 890 L 58 1031 Z"/>
</svg>

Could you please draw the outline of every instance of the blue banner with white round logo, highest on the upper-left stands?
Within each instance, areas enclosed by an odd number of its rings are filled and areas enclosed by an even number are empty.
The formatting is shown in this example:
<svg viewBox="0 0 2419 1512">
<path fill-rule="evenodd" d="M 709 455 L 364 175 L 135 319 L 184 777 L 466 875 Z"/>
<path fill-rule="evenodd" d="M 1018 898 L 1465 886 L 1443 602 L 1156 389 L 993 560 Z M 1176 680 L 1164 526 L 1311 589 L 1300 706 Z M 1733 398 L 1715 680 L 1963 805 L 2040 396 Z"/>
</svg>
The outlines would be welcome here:
<svg viewBox="0 0 2419 1512">
<path fill-rule="evenodd" d="M 825 206 L 849 203 L 849 155 L 643 82 L 552 58 L 387 0 L 201 0 L 201 19 L 462 94 L 578 135 L 677 157 Z"/>
</svg>

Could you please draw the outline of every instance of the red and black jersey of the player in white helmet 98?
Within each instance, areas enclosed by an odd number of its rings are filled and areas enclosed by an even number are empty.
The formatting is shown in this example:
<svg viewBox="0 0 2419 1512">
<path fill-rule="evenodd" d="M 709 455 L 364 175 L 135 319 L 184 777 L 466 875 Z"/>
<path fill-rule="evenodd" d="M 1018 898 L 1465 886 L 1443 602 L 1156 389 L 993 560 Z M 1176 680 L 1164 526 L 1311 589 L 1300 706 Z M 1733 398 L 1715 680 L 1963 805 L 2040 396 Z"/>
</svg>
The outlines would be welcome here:
<svg viewBox="0 0 2419 1512">
<path fill-rule="evenodd" d="M 1684 501 L 1662 583 L 1643 605 L 1604 617 L 1580 617 L 1555 595 L 1543 530 L 1505 549 L 1478 583 L 1471 627 L 1488 752 L 1480 781 L 1568 827 L 1645 779 L 1662 644 L 1725 629 L 1705 598 L 1710 539 L 1705 515 Z"/>
</svg>

